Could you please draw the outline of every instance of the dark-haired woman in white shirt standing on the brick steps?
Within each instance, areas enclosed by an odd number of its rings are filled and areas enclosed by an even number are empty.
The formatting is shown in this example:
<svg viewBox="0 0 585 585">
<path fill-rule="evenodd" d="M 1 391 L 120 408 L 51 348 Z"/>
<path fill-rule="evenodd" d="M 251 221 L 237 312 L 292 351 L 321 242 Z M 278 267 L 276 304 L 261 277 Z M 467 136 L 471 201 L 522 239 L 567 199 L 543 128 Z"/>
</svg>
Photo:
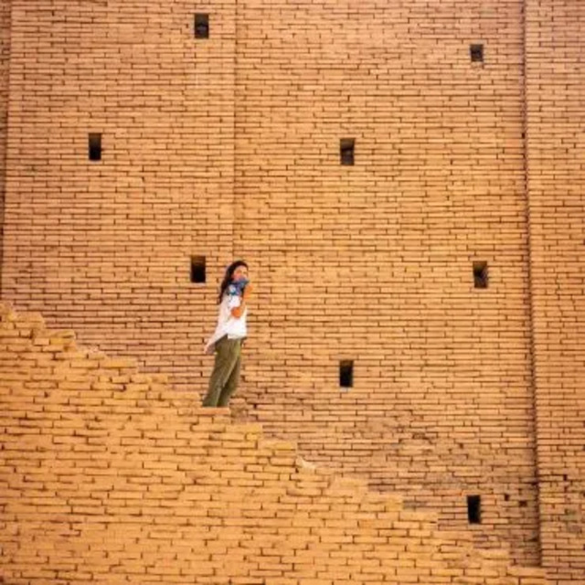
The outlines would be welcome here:
<svg viewBox="0 0 585 585">
<path fill-rule="evenodd" d="M 241 345 L 246 338 L 246 317 L 251 285 L 248 264 L 232 262 L 219 287 L 218 326 L 205 347 L 206 354 L 215 351 L 216 361 L 209 378 L 203 406 L 225 407 L 238 388 Z"/>
</svg>

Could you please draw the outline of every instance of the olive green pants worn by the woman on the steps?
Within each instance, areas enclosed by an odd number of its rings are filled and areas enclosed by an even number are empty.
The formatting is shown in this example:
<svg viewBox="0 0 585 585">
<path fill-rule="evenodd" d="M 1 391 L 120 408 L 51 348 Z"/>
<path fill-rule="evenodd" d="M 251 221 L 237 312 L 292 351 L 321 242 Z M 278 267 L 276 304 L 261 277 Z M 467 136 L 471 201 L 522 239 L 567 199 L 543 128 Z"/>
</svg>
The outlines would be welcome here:
<svg viewBox="0 0 585 585">
<path fill-rule="evenodd" d="M 216 342 L 216 362 L 203 406 L 228 406 L 229 397 L 238 388 L 241 342 L 241 339 L 229 339 L 228 335 Z"/>
</svg>

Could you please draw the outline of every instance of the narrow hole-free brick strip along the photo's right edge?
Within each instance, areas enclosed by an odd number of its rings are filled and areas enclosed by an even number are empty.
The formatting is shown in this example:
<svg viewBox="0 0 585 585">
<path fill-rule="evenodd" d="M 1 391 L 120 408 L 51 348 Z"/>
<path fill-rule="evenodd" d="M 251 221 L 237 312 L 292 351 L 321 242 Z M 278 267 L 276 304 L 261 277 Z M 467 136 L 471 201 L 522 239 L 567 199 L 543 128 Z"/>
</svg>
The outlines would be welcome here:
<svg viewBox="0 0 585 585">
<path fill-rule="evenodd" d="M 527 120 L 542 562 L 585 575 L 585 5 L 527 2 Z"/>
</svg>

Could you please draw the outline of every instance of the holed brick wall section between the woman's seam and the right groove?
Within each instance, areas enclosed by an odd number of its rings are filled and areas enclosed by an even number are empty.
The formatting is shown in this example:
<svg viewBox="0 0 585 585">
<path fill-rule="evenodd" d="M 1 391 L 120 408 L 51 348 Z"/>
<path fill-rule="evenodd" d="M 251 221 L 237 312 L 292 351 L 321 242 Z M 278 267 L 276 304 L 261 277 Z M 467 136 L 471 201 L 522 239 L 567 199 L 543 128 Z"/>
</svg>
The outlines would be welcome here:
<svg viewBox="0 0 585 585">
<path fill-rule="evenodd" d="M 522 3 L 259 1 L 239 23 L 259 293 L 236 408 L 447 526 L 481 495 L 477 542 L 537 562 Z"/>
</svg>

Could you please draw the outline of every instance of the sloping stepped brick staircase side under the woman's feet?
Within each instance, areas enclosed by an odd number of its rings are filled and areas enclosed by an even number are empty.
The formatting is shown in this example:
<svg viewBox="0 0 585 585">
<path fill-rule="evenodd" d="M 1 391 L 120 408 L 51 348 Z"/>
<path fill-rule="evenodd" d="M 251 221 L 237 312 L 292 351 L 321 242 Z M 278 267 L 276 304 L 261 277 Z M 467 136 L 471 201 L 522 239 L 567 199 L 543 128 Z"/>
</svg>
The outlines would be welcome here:
<svg viewBox="0 0 585 585">
<path fill-rule="evenodd" d="M 0 315 L 2 582 L 548 582 L 133 360 Z"/>
</svg>

